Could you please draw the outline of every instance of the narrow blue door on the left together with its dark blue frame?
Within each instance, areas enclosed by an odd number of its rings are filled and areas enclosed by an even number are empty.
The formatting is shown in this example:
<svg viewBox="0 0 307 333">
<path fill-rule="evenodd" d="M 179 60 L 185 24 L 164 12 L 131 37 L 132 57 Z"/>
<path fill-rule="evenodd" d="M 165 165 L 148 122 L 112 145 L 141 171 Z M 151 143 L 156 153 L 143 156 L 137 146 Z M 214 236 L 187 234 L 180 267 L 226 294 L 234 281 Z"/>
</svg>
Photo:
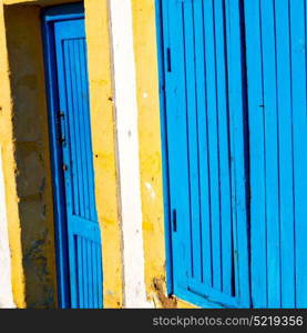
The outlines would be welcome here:
<svg viewBox="0 0 307 333">
<path fill-rule="evenodd" d="M 59 289 L 69 295 L 63 306 L 102 307 L 101 235 L 95 208 L 83 8 L 52 8 L 45 12 L 45 22 L 50 123 L 57 141 L 53 140 L 54 186 L 62 185 L 62 194 L 57 199 L 63 213 L 55 214 L 57 223 L 61 224 L 57 226 L 58 271 L 62 274 Z M 59 193 L 59 189 L 54 192 Z"/>
</svg>

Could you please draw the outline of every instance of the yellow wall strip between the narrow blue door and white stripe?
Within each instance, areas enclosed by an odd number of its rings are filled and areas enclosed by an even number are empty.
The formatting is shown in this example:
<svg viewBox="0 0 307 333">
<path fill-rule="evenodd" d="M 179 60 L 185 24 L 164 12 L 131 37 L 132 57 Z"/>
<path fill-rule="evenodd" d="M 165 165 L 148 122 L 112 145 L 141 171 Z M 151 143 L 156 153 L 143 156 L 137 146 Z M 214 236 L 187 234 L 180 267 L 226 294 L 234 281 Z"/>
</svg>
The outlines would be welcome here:
<svg viewBox="0 0 307 333">
<path fill-rule="evenodd" d="M 119 206 L 116 130 L 109 30 L 109 1 L 86 0 L 95 191 L 102 229 L 104 307 L 122 307 L 122 226 Z"/>
</svg>

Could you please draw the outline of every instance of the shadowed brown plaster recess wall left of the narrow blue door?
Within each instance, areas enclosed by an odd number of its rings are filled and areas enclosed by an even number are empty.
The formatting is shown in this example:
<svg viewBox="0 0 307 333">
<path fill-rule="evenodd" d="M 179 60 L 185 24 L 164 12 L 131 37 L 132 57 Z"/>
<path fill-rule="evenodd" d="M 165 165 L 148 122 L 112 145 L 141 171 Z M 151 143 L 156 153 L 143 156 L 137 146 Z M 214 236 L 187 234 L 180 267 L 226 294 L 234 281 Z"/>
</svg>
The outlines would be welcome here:
<svg viewBox="0 0 307 333">
<path fill-rule="evenodd" d="M 53 206 L 40 9 L 4 7 L 4 23 L 12 101 L 4 111 L 11 113 L 13 125 L 20 223 L 17 226 L 16 221 L 9 220 L 9 224 L 13 223 L 9 225 L 10 243 L 12 248 L 19 246 L 12 234 L 20 230 L 27 306 L 53 307 L 57 302 Z M 17 268 L 12 269 L 17 274 Z M 14 293 L 14 297 L 20 295 Z M 20 301 L 17 304 L 24 305 Z"/>
</svg>

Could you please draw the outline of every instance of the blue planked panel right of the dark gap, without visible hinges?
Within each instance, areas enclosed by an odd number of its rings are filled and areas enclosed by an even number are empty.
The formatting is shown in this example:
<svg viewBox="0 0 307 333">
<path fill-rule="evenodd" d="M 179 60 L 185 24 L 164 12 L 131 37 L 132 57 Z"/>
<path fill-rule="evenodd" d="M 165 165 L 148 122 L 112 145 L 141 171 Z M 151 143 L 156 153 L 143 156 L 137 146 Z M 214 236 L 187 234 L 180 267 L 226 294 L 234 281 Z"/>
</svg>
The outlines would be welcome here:
<svg viewBox="0 0 307 333">
<path fill-rule="evenodd" d="M 306 1 L 244 1 L 255 307 L 307 307 Z"/>
</svg>

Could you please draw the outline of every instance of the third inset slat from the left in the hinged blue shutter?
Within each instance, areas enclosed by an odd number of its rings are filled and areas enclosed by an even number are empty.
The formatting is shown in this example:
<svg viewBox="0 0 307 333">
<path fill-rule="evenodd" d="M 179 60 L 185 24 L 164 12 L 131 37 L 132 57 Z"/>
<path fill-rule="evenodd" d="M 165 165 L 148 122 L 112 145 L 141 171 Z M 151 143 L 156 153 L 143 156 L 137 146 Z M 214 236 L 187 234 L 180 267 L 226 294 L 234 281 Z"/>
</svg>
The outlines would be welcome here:
<svg viewBox="0 0 307 333">
<path fill-rule="evenodd" d="M 212 221 L 212 258 L 213 286 L 222 287 L 221 253 L 221 215 L 219 215 L 219 160 L 218 160 L 218 119 L 216 95 L 216 44 L 214 31 L 214 1 L 204 2 L 205 39 L 206 39 L 206 75 L 207 75 L 207 119 L 211 182 L 211 221 Z"/>
</svg>

